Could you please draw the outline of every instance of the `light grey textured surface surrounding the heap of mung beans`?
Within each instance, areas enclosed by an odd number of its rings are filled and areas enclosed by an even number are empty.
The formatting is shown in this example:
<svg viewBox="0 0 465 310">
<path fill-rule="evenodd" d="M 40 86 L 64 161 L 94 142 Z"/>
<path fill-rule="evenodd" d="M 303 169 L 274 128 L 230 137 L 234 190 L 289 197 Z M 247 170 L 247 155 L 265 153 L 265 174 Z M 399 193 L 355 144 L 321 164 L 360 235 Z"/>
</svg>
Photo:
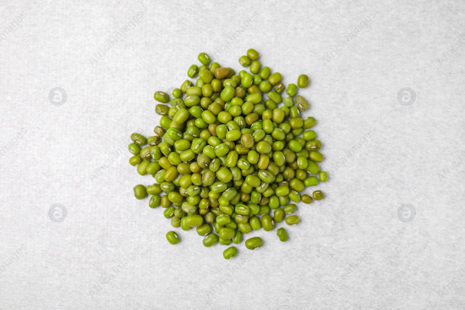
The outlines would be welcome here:
<svg viewBox="0 0 465 310">
<path fill-rule="evenodd" d="M 0 30 L 12 29 L 0 42 L 0 309 L 464 308 L 465 47 L 443 56 L 465 43 L 463 1 L 151 2 L 1 1 Z M 162 209 L 133 197 L 151 177 L 127 163 L 126 146 L 131 132 L 150 135 L 153 92 L 179 86 L 199 52 L 222 48 L 217 61 L 240 70 L 250 47 L 285 84 L 313 75 L 304 116 L 319 121 L 322 167 L 340 168 L 319 186 L 324 200 L 300 205 L 288 242 L 253 232 L 264 246 L 251 255 L 241 244 L 226 261 L 195 231 L 166 242 Z M 54 87 L 66 90 L 62 106 L 48 100 Z M 413 105 L 399 104 L 402 87 Z M 48 216 L 57 203 L 60 223 Z M 410 223 L 397 216 L 404 203 L 417 211 Z"/>
</svg>

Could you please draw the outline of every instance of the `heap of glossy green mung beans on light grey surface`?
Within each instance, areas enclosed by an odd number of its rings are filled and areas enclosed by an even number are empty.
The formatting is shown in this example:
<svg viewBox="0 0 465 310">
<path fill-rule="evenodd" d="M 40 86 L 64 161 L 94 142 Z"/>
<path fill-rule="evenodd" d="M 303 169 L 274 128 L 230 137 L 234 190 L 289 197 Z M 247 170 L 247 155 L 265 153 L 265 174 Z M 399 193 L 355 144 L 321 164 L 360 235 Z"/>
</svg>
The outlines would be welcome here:
<svg viewBox="0 0 465 310">
<path fill-rule="evenodd" d="M 308 130 L 316 120 L 301 118 L 310 105 L 298 88 L 308 86 L 308 76 L 302 74 L 297 85 L 286 87 L 280 73 L 262 67 L 254 49 L 239 58 L 250 73 L 236 75 L 232 68 L 211 62 L 206 53 L 198 59 L 202 65 L 190 66 L 191 79 L 171 96 L 154 93 L 159 102 L 155 111 L 161 115 L 156 135 L 131 135 L 129 163 L 156 181 L 134 186 L 135 197 L 152 195 L 151 208 L 165 208 L 163 215 L 175 228 L 196 227 L 206 247 L 239 244 L 243 234 L 262 227 L 272 231 L 282 221 L 298 224 L 295 203 L 324 198 L 322 191 L 312 196 L 300 192 L 328 179 L 318 165 L 323 160 L 321 142 Z M 284 228 L 277 235 L 283 242 L 288 238 Z M 168 231 L 166 239 L 179 242 L 174 231 Z M 263 241 L 252 237 L 245 244 L 255 249 Z M 232 246 L 223 256 L 229 259 L 236 253 Z"/>
</svg>

